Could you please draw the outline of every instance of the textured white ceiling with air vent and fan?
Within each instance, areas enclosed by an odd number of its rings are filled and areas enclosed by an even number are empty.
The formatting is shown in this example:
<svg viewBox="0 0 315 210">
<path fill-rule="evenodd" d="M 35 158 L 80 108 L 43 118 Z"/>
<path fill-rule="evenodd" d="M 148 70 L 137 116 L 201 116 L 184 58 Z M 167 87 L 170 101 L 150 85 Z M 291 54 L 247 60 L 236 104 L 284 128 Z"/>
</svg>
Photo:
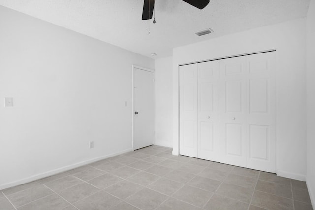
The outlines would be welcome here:
<svg viewBox="0 0 315 210">
<path fill-rule="evenodd" d="M 141 20 L 143 0 L 0 0 L 0 5 L 156 57 L 174 47 L 305 17 L 310 0 L 210 0 L 199 10 L 182 0 L 156 0 L 156 24 Z M 195 32 L 212 28 L 198 37 Z"/>
</svg>

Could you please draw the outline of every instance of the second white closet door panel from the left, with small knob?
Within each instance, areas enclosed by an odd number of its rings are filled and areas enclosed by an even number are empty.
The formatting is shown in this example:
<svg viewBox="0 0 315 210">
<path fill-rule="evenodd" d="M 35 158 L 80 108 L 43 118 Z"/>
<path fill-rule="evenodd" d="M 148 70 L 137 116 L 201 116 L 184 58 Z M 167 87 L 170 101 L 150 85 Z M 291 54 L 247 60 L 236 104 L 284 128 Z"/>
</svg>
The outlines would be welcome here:
<svg viewBox="0 0 315 210">
<path fill-rule="evenodd" d="M 198 158 L 220 162 L 220 61 L 198 64 Z"/>
</svg>

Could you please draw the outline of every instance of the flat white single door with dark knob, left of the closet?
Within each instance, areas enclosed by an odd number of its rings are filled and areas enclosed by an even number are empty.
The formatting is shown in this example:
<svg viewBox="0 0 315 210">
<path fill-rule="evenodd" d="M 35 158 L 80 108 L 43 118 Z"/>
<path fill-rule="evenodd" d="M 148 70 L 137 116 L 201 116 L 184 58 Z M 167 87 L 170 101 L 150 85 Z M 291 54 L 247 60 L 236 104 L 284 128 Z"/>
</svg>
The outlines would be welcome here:
<svg viewBox="0 0 315 210">
<path fill-rule="evenodd" d="M 133 149 L 154 143 L 154 73 L 133 68 Z"/>
</svg>

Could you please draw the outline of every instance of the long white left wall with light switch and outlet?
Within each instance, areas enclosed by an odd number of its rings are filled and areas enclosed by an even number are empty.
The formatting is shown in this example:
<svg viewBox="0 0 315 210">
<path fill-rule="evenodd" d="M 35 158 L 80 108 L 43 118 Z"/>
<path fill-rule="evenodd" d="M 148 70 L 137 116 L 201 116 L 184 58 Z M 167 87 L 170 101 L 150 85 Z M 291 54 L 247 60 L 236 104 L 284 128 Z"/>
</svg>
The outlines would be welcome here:
<svg viewBox="0 0 315 210">
<path fill-rule="evenodd" d="M 130 150 L 132 64 L 154 68 L 0 6 L 0 189 Z"/>
</svg>

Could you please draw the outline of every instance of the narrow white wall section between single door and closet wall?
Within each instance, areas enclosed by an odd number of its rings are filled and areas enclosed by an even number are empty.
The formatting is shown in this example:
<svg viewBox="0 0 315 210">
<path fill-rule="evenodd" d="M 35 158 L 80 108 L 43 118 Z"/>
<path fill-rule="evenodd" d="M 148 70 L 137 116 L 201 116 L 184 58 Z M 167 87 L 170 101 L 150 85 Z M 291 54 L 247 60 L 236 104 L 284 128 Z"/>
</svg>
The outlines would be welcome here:
<svg viewBox="0 0 315 210">
<path fill-rule="evenodd" d="M 155 60 L 156 122 L 155 144 L 173 147 L 172 57 Z"/>
</svg>

